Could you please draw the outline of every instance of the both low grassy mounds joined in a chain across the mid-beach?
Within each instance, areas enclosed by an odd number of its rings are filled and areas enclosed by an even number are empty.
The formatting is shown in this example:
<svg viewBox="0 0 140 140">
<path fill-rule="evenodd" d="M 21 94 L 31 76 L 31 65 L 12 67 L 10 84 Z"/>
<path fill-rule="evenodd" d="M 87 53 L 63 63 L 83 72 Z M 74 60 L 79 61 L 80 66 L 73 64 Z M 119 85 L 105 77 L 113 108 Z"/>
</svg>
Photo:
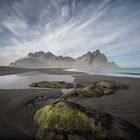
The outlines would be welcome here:
<svg viewBox="0 0 140 140">
<path fill-rule="evenodd" d="M 73 88 L 73 90 L 65 97 L 101 97 L 103 95 L 110 95 L 120 89 L 127 89 L 125 85 L 115 83 L 112 81 L 101 80 L 94 82 L 90 86 L 66 83 L 65 81 L 41 81 L 29 85 L 31 87 L 41 88 Z"/>
</svg>

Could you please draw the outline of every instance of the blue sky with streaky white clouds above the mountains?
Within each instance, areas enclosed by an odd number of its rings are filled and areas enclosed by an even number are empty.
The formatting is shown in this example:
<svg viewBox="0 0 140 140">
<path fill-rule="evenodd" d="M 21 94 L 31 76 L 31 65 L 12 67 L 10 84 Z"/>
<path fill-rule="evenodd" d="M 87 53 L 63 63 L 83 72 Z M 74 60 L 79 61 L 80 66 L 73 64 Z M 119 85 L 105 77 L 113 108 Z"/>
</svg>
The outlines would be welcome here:
<svg viewBox="0 0 140 140">
<path fill-rule="evenodd" d="M 140 0 L 0 0 L 0 65 L 29 52 L 78 57 L 100 49 L 140 67 Z"/>
</svg>

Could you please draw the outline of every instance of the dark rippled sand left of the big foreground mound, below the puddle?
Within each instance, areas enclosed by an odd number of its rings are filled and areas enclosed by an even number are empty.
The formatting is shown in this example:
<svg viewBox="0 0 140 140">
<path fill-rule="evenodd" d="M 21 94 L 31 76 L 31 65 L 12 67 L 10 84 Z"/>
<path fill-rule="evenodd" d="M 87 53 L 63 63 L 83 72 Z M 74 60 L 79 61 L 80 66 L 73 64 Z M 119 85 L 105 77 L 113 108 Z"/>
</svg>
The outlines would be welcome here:
<svg viewBox="0 0 140 140">
<path fill-rule="evenodd" d="M 0 139 L 33 139 L 34 112 L 61 95 L 60 91 L 46 89 L 0 90 Z"/>
</svg>

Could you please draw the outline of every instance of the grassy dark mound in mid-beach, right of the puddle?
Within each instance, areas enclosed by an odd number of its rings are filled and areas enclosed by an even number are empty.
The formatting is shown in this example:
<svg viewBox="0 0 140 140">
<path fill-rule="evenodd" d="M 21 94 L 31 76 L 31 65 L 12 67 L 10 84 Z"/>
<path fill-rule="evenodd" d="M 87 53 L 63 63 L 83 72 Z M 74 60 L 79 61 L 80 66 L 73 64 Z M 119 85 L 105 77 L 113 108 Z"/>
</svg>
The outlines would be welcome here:
<svg viewBox="0 0 140 140">
<path fill-rule="evenodd" d="M 110 95 L 120 89 L 127 89 L 125 85 L 115 83 L 112 81 L 102 80 L 94 82 L 91 86 L 75 87 L 68 95 L 72 97 L 100 97 L 103 95 Z"/>
</svg>

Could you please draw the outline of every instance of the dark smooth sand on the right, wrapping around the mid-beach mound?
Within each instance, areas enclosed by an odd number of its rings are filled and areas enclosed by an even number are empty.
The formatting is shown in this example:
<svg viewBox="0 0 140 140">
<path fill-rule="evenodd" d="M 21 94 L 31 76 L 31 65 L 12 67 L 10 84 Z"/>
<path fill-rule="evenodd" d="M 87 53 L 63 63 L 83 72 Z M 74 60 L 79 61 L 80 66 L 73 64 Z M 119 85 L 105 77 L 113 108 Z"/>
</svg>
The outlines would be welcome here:
<svg viewBox="0 0 140 140">
<path fill-rule="evenodd" d="M 119 90 L 115 94 L 102 96 L 100 98 L 75 98 L 72 100 L 88 108 L 107 111 L 124 120 L 132 122 L 140 128 L 140 79 L 81 75 L 76 76 L 75 82 L 88 85 L 99 80 L 116 81 L 128 85 L 129 88 L 127 90 Z"/>
</svg>

